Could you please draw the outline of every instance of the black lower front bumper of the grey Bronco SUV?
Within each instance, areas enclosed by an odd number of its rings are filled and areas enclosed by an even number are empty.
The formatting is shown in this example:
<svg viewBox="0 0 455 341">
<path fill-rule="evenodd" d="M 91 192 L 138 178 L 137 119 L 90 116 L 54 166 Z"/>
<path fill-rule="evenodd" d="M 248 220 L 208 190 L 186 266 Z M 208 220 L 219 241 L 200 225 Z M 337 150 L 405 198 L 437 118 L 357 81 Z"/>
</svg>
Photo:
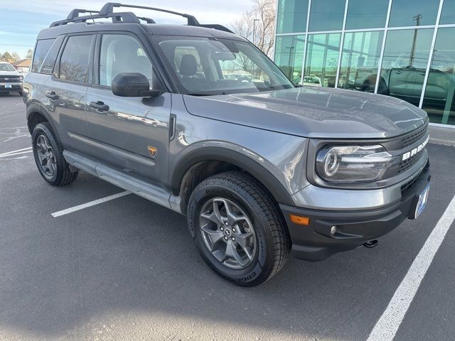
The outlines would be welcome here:
<svg viewBox="0 0 455 341">
<path fill-rule="evenodd" d="M 431 172 L 427 163 L 412 183 L 402 186 L 399 201 L 379 210 L 338 212 L 280 204 L 291 235 L 292 255 L 308 261 L 321 261 L 336 252 L 355 249 L 365 242 L 382 237 L 412 216 L 416 200 L 430 179 Z M 341 193 L 339 200 L 344 200 L 342 195 Z M 291 222 L 290 215 L 309 217 L 309 225 Z M 333 226 L 336 226 L 337 231 L 331 235 Z"/>
</svg>

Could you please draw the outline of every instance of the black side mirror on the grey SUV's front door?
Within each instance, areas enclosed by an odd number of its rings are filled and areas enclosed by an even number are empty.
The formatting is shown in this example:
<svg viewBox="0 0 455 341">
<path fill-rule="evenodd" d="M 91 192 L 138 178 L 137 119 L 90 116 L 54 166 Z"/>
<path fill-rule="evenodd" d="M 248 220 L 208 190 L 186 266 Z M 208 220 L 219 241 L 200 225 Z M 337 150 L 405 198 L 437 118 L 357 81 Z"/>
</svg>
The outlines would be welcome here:
<svg viewBox="0 0 455 341">
<path fill-rule="evenodd" d="M 112 93 L 120 97 L 159 97 L 161 90 L 150 90 L 147 77 L 136 72 L 120 73 L 112 81 Z"/>
</svg>

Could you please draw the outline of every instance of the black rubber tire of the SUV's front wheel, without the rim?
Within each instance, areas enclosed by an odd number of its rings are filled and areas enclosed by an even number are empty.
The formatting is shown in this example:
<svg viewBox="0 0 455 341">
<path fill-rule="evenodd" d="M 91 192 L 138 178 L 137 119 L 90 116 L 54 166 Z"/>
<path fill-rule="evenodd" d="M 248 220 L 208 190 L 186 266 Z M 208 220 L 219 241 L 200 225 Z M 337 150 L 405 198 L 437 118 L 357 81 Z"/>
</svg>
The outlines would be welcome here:
<svg viewBox="0 0 455 341">
<path fill-rule="evenodd" d="M 200 214 L 214 197 L 235 203 L 252 222 L 257 248 L 251 263 L 243 269 L 225 266 L 204 242 Z M 291 239 L 282 213 L 264 186 L 247 173 L 226 172 L 203 180 L 191 194 L 187 220 L 191 236 L 205 263 L 238 286 L 251 287 L 264 283 L 276 275 L 289 259 Z"/>
</svg>

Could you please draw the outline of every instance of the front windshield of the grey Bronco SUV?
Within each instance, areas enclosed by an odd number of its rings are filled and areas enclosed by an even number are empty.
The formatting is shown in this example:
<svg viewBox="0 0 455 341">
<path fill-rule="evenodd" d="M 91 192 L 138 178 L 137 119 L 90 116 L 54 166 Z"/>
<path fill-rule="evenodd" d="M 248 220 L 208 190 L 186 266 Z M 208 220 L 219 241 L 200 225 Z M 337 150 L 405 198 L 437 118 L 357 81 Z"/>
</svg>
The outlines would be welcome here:
<svg viewBox="0 0 455 341">
<path fill-rule="evenodd" d="M 294 85 L 254 45 L 215 38 L 161 38 L 159 47 L 188 94 L 290 89 Z"/>
</svg>

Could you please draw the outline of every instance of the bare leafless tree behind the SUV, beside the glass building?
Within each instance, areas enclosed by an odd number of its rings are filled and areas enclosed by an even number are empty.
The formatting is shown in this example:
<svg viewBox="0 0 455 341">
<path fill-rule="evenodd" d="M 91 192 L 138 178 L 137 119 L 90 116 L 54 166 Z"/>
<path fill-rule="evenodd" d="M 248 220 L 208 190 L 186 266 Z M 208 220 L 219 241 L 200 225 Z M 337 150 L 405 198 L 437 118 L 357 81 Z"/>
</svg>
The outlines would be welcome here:
<svg viewBox="0 0 455 341">
<path fill-rule="evenodd" d="M 276 0 L 251 0 L 252 9 L 232 23 L 238 35 L 257 45 L 266 55 L 272 57 L 274 48 Z"/>
</svg>

